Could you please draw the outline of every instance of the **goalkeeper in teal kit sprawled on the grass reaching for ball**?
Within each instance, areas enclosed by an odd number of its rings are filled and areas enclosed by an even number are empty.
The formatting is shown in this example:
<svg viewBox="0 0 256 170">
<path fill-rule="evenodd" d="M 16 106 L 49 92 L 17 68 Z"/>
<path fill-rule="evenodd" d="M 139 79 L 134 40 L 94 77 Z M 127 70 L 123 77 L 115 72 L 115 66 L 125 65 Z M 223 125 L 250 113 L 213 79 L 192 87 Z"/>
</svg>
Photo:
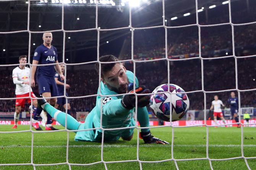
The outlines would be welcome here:
<svg viewBox="0 0 256 170">
<path fill-rule="evenodd" d="M 133 130 L 135 126 L 134 108 L 136 105 L 135 95 L 118 95 L 127 92 L 133 93 L 133 83 L 135 83 L 137 94 L 145 94 L 137 96 L 137 119 L 141 127 L 149 127 L 149 116 L 146 106 L 149 104 L 150 95 L 149 89 L 144 86 L 139 86 L 138 79 L 131 71 L 126 70 L 121 62 L 118 62 L 117 57 L 108 55 L 99 58 L 102 63 L 100 74 L 101 82 L 97 92 L 96 106 L 88 114 L 84 123 L 76 121 L 72 116 L 67 115 L 67 129 L 83 130 L 100 127 L 100 111 L 102 107 L 102 128 L 114 129 L 123 127 L 132 127 L 128 129 L 104 130 L 104 141 L 117 141 L 120 138 L 123 140 L 131 140 L 133 138 Z M 96 71 L 99 73 L 99 63 L 96 64 Z M 130 83 L 130 84 L 129 84 Z M 100 97 L 99 94 L 105 97 Z M 109 95 L 109 96 L 108 96 Z M 56 121 L 65 127 L 66 113 L 63 113 L 51 106 L 45 99 L 38 99 L 39 107 L 47 111 Z M 160 143 L 169 144 L 167 141 L 151 135 L 149 128 L 141 129 L 140 138 L 144 143 Z M 78 131 L 75 136 L 76 141 L 102 141 L 102 129 Z"/>
</svg>

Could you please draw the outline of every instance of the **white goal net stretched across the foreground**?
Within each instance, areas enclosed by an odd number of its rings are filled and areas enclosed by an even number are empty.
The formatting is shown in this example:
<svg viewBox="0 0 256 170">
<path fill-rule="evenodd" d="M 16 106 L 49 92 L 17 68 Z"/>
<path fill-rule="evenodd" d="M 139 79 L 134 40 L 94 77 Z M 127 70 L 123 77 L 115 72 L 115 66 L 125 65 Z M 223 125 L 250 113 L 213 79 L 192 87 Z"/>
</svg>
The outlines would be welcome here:
<svg viewBox="0 0 256 170">
<path fill-rule="evenodd" d="M 31 67 L 31 34 L 33 33 L 43 33 L 43 32 L 39 32 L 39 31 L 31 31 L 30 28 L 30 17 L 31 17 L 31 3 L 35 2 L 36 0 L 28 0 L 28 27 L 27 30 L 21 30 L 21 31 L 14 31 L 14 32 L 0 32 L 0 34 L 13 34 L 13 33 L 29 33 L 29 44 L 28 44 L 28 61 L 29 61 L 29 66 Z M 239 157 L 231 157 L 231 158 L 227 158 L 227 159 L 212 159 L 211 157 L 209 157 L 209 127 L 214 127 L 216 125 L 207 125 L 206 121 L 207 121 L 207 116 L 206 116 L 206 110 L 207 110 L 207 103 L 206 103 L 206 95 L 207 94 L 214 94 L 214 93 L 219 93 L 219 92 L 231 92 L 231 91 L 236 91 L 238 93 L 238 103 L 239 103 L 239 108 L 241 108 L 241 96 L 240 93 L 241 92 L 245 92 L 245 91 L 255 91 L 256 88 L 254 89 L 248 89 L 248 90 L 241 90 L 238 88 L 238 64 L 237 64 L 237 60 L 240 58 L 248 58 L 248 57 L 256 57 L 256 56 L 243 56 L 243 57 L 238 57 L 235 55 L 235 38 L 234 38 L 234 26 L 242 26 L 242 25 L 249 25 L 249 24 L 256 24 L 256 22 L 250 22 L 250 23 L 244 23 L 244 24 L 233 24 L 232 22 L 232 10 L 231 10 L 231 0 L 228 0 L 228 10 L 229 10 L 229 22 L 227 23 L 223 23 L 223 24 L 214 24 L 214 25 L 201 25 L 199 24 L 199 19 L 198 19 L 198 0 L 195 0 L 195 6 L 196 6 L 196 24 L 190 24 L 190 25 L 182 25 L 182 26 L 168 26 L 167 22 L 165 21 L 165 4 L 169 3 L 168 0 L 162 0 L 162 25 L 160 26 L 152 26 L 152 27 L 134 27 L 133 23 L 132 23 L 132 7 L 130 6 L 130 12 L 129 12 L 129 19 L 130 19 L 130 23 L 129 23 L 129 27 L 122 27 L 122 28 L 115 28 L 115 29 L 100 29 L 99 25 L 98 25 L 98 5 L 99 5 L 99 1 L 95 1 L 96 2 L 96 25 L 94 28 L 92 29 L 82 29 L 82 30 L 65 30 L 64 29 L 64 22 L 65 22 L 65 17 L 64 17 L 64 4 L 65 0 L 62 1 L 62 29 L 60 30 L 48 30 L 49 32 L 63 32 L 63 64 L 65 64 L 66 66 L 69 65 L 81 65 L 81 64 L 93 64 L 98 62 L 99 63 L 99 86 L 100 86 L 100 70 L 101 70 L 101 62 L 99 62 L 99 51 L 100 51 L 100 32 L 104 32 L 104 31 L 115 31 L 115 30 L 120 30 L 120 29 L 131 29 L 131 59 L 127 59 L 127 60 L 122 60 L 122 62 L 132 62 L 133 63 L 133 73 L 134 75 L 136 75 L 136 64 L 138 63 L 148 63 L 148 62 L 156 62 L 156 61 L 160 61 L 160 60 L 164 60 L 167 61 L 167 69 L 168 69 L 168 84 L 172 83 L 171 79 L 170 79 L 170 61 L 187 61 L 187 60 L 193 60 L 193 59 L 200 59 L 201 60 L 201 83 L 202 83 L 202 89 L 201 90 L 196 90 L 196 91 L 188 91 L 186 92 L 186 94 L 192 94 L 192 93 L 197 93 L 197 92 L 202 92 L 204 94 L 204 121 L 203 124 L 199 124 L 199 125 L 191 125 L 191 126 L 183 126 L 182 128 L 186 128 L 186 127 L 195 127 L 195 126 L 204 126 L 206 127 L 206 143 L 204 146 L 206 146 L 206 157 L 203 158 L 193 158 L 193 159 L 175 159 L 174 157 L 174 148 L 175 148 L 175 129 L 180 128 L 178 126 L 175 126 L 175 122 L 174 123 L 170 123 L 168 125 L 163 125 L 163 126 L 152 126 L 150 128 L 160 128 L 160 127 L 171 127 L 172 129 L 172 141 L 171 141 L 171 157 L 169 159 L 164 159 L 164 160 L 157 160 L 157 161 L 145 161 L 145 160 L 141 160 L 140 159 L 140 155 L 139 155 L 139 149 L 140 149 L 140 145 L 139 145 L 139 131 L 141 129 L 143 129 L 142 127 L 139 127 L 138 125 L 134 126 L 134 127 L 126 127 L 126 128 L 135 128 L 135 130 L 137 129 L 138 133 L 137 133 L 137 147 L 136 147 L 136 159 L 134 160 L 118 160 L 118 161 L 106 161 L 104 160 L 104 147 L 105 146 L 109 146 L 108 144 L 104 143 L 104 131 L 106 130 L 116 130 L 116 129 L 104 129 L 102 128 L 102 113 L 101 113 L 101 118 L 100 118 L 100 127 L 99 128 L 94 128 L 94 129 L 101 129 L 102 130 L 102 143 L 101 143 L 101 160 L 98 162 L 93 162 L 90 164 L 75 164 L 75 163 L 70 163 L 69 161 L 69 151 L 70 151 L 70 145 L 69 145 L 69 140 L 70 140 L 70 133 L 74 133 L 78 130 L 68 130 L 65 126 L 65 129 L 63 130 L 57 130 L 54 132 L 59 132 L 59 131 L 65 131 L 67 132 L 67 141 L 66 141 L 66 162 L 59 162 L 59 163 L 55 163 L 55 164 L 35 164 L 34 163 L 34 136 L 36 133 L 52 133 L 50 131 L 43 131 L 43 132 L 38 132 L 38 131 L 34 131 L 32 130 L 32 127 L 30 126 L 30 130 L 22 130 L 22 131 L 13 131 L 13 132 L 4 132 L 1 131 L 0 134 L 3 133 L 24 133 L 24 132 L 30 132 L 32 134 L 32 140 L 31 140 L 31 162 L 30 163 L 26 163 L 26 164 L 0 164 L 0 169 L 3 166 L 11 166 L 11 165 L 32 165 L 34 170 L 36 170 L 38 167 L 41 166 L 49 166 L 49 165 L 68 165 L 69 169 L 72 169 L 73 165 L 78 165 L 78 166 L 86 166 L 89 168 L 90 165 L 94 165 L 94 164 L 104 164 L 105 169 L 108 169 L 108 164 L 111 163 L 120 163 L 120 162 L 138 162 L 139 164 L 139 168 L 142 170 L 144 169 L 142 164 L 143 163 L 159 163 L 159 162 L 167 162 L 167 161 L 173 161 L 175 163 L 175 167 L 177 169 L 179 169 L 179 166 L 177 164 L 177 162 L 179 161 L 191 161 L 191 160 L 206 160 L 209 161 L 209 165 L 210 168 L 213 170 L 213 166 L 212 166 L 212 161 L 222 161 L 222 160 L 234 160 L 234 159 L 243 159 L 245 161 L 245 164 L 247 166 L 247 168 L 249 170 L 251 170 L 252 168 L 250 167 L 250 165 L 248 164 L 248 160 L 249 159 L 256 159 L 256 157 L 246 157 L 244 155 L 244 127 L 241 121 L 241 115 L 242 115 L 242 110 L 239 110 L 239 124 L 241 125 L 241 156 Z M 224 56 L 224 57 L 210 57 L 210 58 L 205 58 L 202 57 L 202 52 L 201 52 L 201 28 L 202 27 L 213 27 L 213 26 L 221 26 L 221 25 L 230 25 L 232 28 L 232 54 L 228 55 L 228 56 Z M 199 57 L 193 57 L 193 58 L 183 58 L 183 59 L 170 59 L 168 57 L 168 41 L 167 41 L 167 33 L 168 33 L 168 29 L 173 29 L 173 28 L 183 28 L 183 27 L 192 27 L 192 26 L 197 26 L 198 27 L 198 35 L 199 35 L 199 39 L 198 39 L 198 43 L 199 43 Z M 165 30 L 165 58 L 161 58 L 161 59 L 152 59 L 152 60 L 136 60 L 134 59 L 134 31 L 136 30 L 146 30 L 146 29 L 153 29 L 153 28 L 163 28 Z M 75 33 L 75 32 L 82 32 L 82 31 L 91 31 L 91 30 L 95 30 L 97 31 L 97 61 L 95 62 L 84 62 L 84 63 L 79 63 L 79 64 L 68 64 L 66 63 L 66 56 L 65 56 L 65 46 L 66 46 L 66 36 L 67 33 Z M 224 59 L 224 58 L 233 58 L 235 60 L 235 88 L 234 89 L 228 89 L 228 90 L 221 90 L 221 91 L 206 91 L 204 88 L 204 60 L 215 60 L 215 59 Z M 0 67 L 10 67 L 10 66 L 18 66 L 19 64 L 8 64 L 8 65 L 0 65 Z M 66 73 L 66 69 L 65 69 L 65 73 Z M 66 74 L 65 74 L 66 75 Z M 135 76 L 134 76 L 134 81 L 135 81 Z M 66 79 L 65 79 L 65 84 L 66 84 Z M 135 87 L 135 85 L 134 85 Z M 66 90 L 65 90 L 66 91 Z M 64 92 L 65 94 L 65 92 Z M 138 96 L 138 94 L 135 94 L 136 96 Z M 97 96 L 97 94 L 94 95 L 86 95 L 86 96 L 81 96 L 81 97 L 67 97 L 66 95 L 62 96 L 65 97 L 66 101 L 68 99 L 79 99 L 79 98 L 85 98 L 85 97 L 95 97 Z M 100 95 L 102 98 L 105 97 L 105 95 Z M 109 95 L 108 95 L 109 96 Z M 115 95 L 113 95 L 115 96 Z M 0 100 L 13 100 L 16 98 L 0 98 Z M 32 98 L 31 98 L 32 99 Z M 137 98 L 136 98 L 137 100 Z M 191 101 L 193 102 L 193 101 Z M 32 105 L 32 104 L 31 104 Z M 136 108 L 137 108 L 137 103 L 136 103 Z M 253 109 L 250 108 L 251 112 L 253 112 Z M 102 110 L 101 110 L 102 111 Z M 225 110 L 225 113 L 230 113 L 230 110 Z M 136 113 L 135 115 L 137 115 L 137 109 L 136 109 Z M 67 116 L 67 113 L 66 113 Z M 31 118 L 32 120 L 32 118 Z M 137 116 L 135 116 L 135 122 L 137 122 Z M 237 124 L 237 123 L 230 123 L 230 124 L 225 124 L 225 125 L 232 125 L 232 124 Z M 248 124 L 246 124 L 248 125 Z M 249 124 L 250 125 L 250 124 Z M 217 126 L 223 126 L 222 125 L 217 125 Z M 125 129 L 125 128 L 119 128 L 119 129 Z M 92 129 L 86 129 L 86 130 L 92 130 Z M 157 135 L 156 135 L 157 136 Z M 0 137 L 1 139 L 1 137 Z M 91 144 L 93 145 L 93 143 Z M 90 146 L 91 146 L 90 145 Z M 87 146 L 87 147 L 90 147 Z M 86 147 L 86 146 L 85 146 Z M 115 146 L 113 146 L 115 147 Z M 118 147 L 118 146 L 117 146 Z"/>
</svg>

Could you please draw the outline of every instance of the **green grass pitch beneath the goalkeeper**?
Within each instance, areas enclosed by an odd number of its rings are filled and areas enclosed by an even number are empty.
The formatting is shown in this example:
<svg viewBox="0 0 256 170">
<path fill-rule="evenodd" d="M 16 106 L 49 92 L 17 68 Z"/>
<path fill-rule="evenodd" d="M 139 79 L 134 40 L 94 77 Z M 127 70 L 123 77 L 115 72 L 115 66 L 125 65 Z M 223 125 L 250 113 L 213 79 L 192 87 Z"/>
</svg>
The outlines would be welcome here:
<svg viewBox="0 0 256 170">
<path fill-rule="evenodd" d="M 2 125 L 0 131 L 14 131 L 12 126 Z M 57 128 L 63 129 L 61 126 Z M 18 126 L 17 130 L 29 130 Z M 256 129 L 244 127 L 244 156 L 256 157 Z M 152 128 L 154 136 L 172 142 L 172 128 Z M 101 143 L 74 141 L 75 133 L 69 133 L 68 162 L 90 164 L 101 161 Z M 31 163 L 31 132 L 0 133 L 0 164 Z M 34 164 L 66 162 L 67 132 L 34 133 Z M 225 159 L 241 156 L 241 129 L 236 127 L 209 127 L 209 158 Z M 206 127 L 183 127 L 174 129 L 173 157 L 175 159 L 206 157 Z M 157 161 L 171 159 L 171 145 L 145 145 L 139 140 L 139 160 Z M 136 160 L 137 130 L 131 141 L 119 140 L 104 143 L 103 160 Z M 107 163 L 109 170 L 139 170 L 138 162 Z M 175 162 L 142 163 L 145 170 L 172 170 Z M 209 170 L 208 160 L 177 161 L 180 170 Z M 251 170 L 256 169 L 256 159 L 248 159 Z M 214 170 L 246 170 L 244 159 L 212 161 Z M 32 170 L 32 165 L 0 166 L 0 170 Z M 37 170 L 68 170 L 68 165 L 36 166 Z M 89 166 L 71 166 L 72 170 L 101 170 L 103 163 Z"/>
</svg>

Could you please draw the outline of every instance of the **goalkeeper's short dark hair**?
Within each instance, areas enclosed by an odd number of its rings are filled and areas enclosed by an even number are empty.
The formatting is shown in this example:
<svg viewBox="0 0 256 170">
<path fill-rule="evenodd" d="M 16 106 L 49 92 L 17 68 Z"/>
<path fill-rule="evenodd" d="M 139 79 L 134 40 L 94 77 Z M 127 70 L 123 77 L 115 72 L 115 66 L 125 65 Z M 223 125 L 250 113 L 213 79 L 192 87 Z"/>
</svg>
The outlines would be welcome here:
<svg viewBox="0 0 256 170">
<path fill-rule="evenodd" d="M 115 62 L 118 61 L 117 57 L 113 56 L 113 55 L 106 55 L 106 56 L 101 56 L 99 58 L 100 62 Z M 116 63 L 106 63 L 106 64 L 101 64 L 101 77 L 103 78 L 104 73 L 107 73 L 108 71 L 110 71 Z M 99 63 L 95 64 L 95 69 L 97 71 L 97 73 L 99 73 Z"/>
</svg>

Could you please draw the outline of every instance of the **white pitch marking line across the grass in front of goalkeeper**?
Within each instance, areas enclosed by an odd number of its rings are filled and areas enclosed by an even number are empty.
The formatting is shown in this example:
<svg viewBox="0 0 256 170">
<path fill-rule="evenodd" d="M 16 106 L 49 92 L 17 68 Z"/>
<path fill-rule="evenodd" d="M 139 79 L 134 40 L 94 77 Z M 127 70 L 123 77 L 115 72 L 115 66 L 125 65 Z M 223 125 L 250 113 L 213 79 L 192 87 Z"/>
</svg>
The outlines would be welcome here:
<svg viewBox="0 0 256 170">
<path fill-rule="evenodd" d="M 139 145 L 139 147 L 171 147 L 172 145 Z M 206 145 L 173 145 L 177 147 L 206 147 Z M 208 145 L 209 147 L 240 147 L 241 145 Z M 244 147 L 256 147 L 256 145 L 243 145 Z M 31 145 L 6 145 L 0 148 L 31 148 Z M 101 148 L 101 145 L 69 145 L 69 148 Z M 137 145 L 104 145 L 104 148 L 135 148 Z M 66 148 L 66 145 L 37 146 L 34 148 Z"/>
</svg>

